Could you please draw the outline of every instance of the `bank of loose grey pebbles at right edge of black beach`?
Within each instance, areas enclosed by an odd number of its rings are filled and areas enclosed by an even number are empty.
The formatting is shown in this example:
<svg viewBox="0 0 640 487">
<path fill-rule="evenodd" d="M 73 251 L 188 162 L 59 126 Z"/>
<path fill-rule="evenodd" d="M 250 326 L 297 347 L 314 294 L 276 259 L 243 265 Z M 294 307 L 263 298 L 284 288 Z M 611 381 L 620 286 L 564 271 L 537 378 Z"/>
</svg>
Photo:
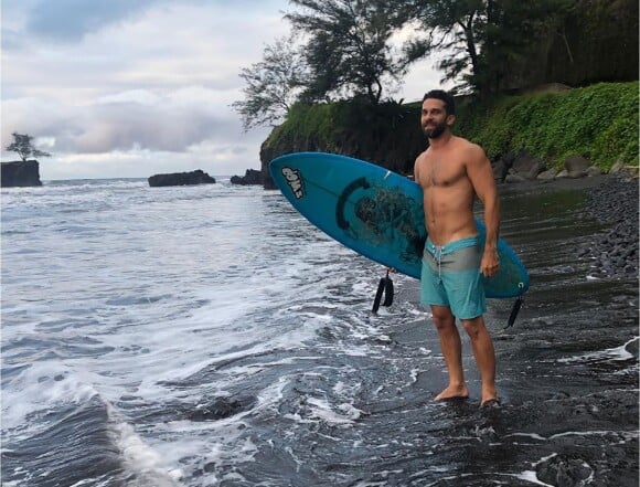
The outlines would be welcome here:
<svg viewBox="0 0 640 487">
<path fill-rule="evenodd" d="M 586 215 L 606 226 L 580 256 L 594 258 L 600 277 L 638 276 L 638 179 L 609 176 L 589 189 Z"/>
</svg>

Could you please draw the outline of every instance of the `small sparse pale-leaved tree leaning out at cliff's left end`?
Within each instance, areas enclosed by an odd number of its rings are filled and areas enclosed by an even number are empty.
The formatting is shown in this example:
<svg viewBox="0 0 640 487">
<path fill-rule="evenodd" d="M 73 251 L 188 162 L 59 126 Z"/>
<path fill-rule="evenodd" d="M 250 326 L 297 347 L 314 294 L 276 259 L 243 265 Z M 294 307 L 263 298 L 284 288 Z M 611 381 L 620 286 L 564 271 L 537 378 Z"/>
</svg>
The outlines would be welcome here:
<svg viewBox="0 0 640 487">
<path fill-rule="evenodd" d="M 307 76 L 306 62 L 295 39 L 279 39 L 267 45 L 263 61 L 244 67 L 244 99 L 232 106 L 242 117 L 245 130 L 259 125 L 274 125 L 289 113 Z"/>
</svg>

